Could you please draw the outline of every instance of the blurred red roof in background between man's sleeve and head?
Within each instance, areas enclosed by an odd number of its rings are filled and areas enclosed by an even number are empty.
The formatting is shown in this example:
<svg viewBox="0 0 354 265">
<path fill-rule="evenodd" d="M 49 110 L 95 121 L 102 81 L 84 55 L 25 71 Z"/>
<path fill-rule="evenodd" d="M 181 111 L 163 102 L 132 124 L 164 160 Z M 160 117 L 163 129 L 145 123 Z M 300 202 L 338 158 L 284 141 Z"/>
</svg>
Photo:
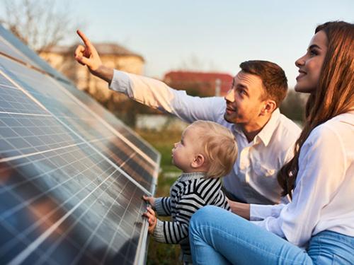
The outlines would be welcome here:
<svg viewBox="0 0 354 265">
<path fill-rule="evenodd" d="M 179 90 L 186 90 L 188 95 L 224 96 L 232 86 L 233 76 L 228 73 L 197 71 L 170 71 L 164 76 L 164 82 Z"/>
</svg>

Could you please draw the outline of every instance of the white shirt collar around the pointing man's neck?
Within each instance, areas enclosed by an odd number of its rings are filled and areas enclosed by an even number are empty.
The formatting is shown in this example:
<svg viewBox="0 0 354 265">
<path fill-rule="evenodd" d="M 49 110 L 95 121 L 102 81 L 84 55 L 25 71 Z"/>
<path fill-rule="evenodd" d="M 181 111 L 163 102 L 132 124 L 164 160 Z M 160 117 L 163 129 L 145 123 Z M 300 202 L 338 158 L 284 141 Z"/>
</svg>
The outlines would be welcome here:
<svg viewBox="0 0 354 265">
<path fill-rule="evenodd" d="M 270 116 L 270 119 L 265 124 L 263 129 L 254 137 L 253 143 L 257 143 L 258 139 L 260 139 L 263 142 L 264 146 L 268 146 L 270 138 L 272 138 L 273 132 L 275 131 L 275 128 L 278 124 L 279 117 L 280 117 L 280 110 L 279 108 L 277 108 L 272 113 L 272 116 Z M 246 136 L 244 135 L 244 131 L 242 131 L 241 127 L 238 124 L 234 124 L 234 131 L 237 134 L 240 134 L 241 136 L 246 138 Z"/>
</svg>

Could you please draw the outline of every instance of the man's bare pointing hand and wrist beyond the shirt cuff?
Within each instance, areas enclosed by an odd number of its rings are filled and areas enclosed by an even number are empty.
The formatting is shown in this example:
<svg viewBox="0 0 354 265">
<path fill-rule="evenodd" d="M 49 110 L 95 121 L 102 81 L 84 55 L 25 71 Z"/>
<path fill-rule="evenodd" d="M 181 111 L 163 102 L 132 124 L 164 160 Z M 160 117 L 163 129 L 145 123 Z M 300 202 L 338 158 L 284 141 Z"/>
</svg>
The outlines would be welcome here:
<svg viewBox="0 0 354 265">
<path fill-rule="evenodd" d="M 113 79 L 113 69 L 108 68 L 102 64 L 101 58 L 98 55 L 96 48 L 92 45 L 90 40 L 80 30 L 76 30 L 76 33 L 81 37 L 84 42 L 83 45 L 79 45 L 75 49 L 75 59 L 82 65 L 86 65 L 89 71 L 104 81 L 110 83 Z"/>
</svg>

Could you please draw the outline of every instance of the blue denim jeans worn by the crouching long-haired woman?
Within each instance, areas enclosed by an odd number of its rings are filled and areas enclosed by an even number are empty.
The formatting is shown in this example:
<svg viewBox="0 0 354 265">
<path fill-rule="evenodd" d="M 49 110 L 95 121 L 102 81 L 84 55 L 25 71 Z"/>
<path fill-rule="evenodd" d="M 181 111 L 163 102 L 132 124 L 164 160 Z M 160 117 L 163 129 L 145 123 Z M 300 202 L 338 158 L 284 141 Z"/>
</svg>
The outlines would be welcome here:
<svg viewBox="0 0 354 265">
<path fill-rule="evenodd" d="M 193 264 L 354 264 L 354 237 L 323 231 L 305 252 L 216 206 L 192 216 L 189 237 Z"/>
</svg>

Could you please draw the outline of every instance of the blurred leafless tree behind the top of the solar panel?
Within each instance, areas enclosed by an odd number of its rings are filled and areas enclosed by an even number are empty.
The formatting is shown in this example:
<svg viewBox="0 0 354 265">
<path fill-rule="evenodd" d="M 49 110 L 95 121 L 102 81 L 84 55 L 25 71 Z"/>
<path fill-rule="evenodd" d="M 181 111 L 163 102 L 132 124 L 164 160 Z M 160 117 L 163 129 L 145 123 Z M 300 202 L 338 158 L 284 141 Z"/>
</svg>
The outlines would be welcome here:
<svg viewBox="0 0 354 265">
<path fill-rule="evenodd" d="M 68 4 L 55 0 L 4 0 L 0 23 L 22 42 L 41 52 L 72 37 L 79 23 L 74 23 Z"/>
</svg>

